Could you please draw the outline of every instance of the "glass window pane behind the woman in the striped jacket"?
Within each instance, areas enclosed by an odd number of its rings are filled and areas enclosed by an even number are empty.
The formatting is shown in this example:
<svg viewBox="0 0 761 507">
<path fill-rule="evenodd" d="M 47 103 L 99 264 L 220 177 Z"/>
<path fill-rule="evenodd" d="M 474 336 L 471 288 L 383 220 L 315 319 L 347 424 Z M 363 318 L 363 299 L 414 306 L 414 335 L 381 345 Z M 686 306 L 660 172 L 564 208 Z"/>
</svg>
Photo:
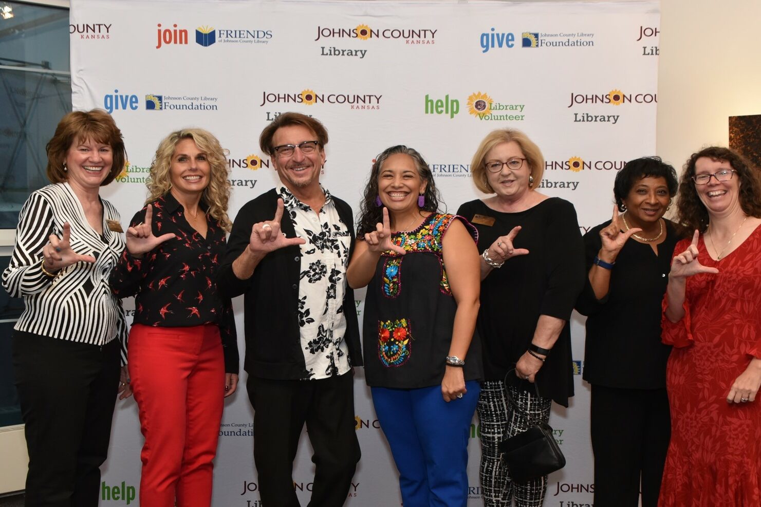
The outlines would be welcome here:
<svg viewBox="0 0 761 507">
<path fill-rule="evenodd" d="M 49 183 L 45 145 L 72 110 L 68 65 L 68 9 L 0 2 L 0 229 Z"/>
</svg>

